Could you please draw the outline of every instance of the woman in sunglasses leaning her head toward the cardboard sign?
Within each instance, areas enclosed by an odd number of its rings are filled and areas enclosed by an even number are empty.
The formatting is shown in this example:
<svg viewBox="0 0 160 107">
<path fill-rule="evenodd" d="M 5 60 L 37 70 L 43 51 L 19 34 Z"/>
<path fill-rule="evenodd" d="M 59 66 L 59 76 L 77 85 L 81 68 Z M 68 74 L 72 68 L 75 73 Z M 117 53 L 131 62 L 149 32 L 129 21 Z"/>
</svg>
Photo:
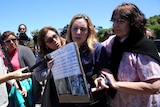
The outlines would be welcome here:
<svg viewBox="0 0 160 107">
<path fill-rule="evenodd" d="M 44 56 L 48 53 L 64 46 L 65 43 L 66 40 L 59 36 L 58 31 L 54 27 L 43 27 L 38 33 L 38 44 L 40 50 L 36 63 L 43 60 Z M 37 81 L 46 82 L 41 102 L 42 107 L 60 106 L 54 79 L 50 70 L 51 65 L 53 65 L 53 60 L 39 65 L 34 71 Z"/>
</svg>

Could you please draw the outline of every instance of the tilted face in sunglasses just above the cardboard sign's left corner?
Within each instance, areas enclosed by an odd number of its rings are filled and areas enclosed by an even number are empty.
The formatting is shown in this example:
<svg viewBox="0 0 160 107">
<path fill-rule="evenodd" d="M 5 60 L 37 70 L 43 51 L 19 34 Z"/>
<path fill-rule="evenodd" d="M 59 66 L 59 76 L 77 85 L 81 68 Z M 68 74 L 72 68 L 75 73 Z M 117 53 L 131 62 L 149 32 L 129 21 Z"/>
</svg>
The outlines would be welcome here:
<svg viewBox="0 0 160 107">
<path fill-rule="evenodd" d="M 52 50 L 56 50 L 61 47 L 60 38 L 54 31 L 49 30 L 45 35 L 44 41 L 46 46 Z"/>
</svg>

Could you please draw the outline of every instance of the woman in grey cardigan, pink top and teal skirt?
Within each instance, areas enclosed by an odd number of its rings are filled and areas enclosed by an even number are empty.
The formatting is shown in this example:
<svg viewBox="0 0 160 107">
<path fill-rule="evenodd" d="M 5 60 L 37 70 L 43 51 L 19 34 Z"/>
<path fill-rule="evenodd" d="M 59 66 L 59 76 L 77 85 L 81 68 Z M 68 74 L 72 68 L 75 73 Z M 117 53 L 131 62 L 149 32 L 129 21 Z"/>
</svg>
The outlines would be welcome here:
<svg viewBox="0 0 160 107">
<path fill-rule="evenodd" d="M 1 56 L 3 57 L 4 63 L 8 68 L 11 68 L 10 65 L 13 66 L 14 70 L 17 70 L 26 66 L 28 66 L 28 68 L 31 68 L 35 64 L 36 59 L 33 52 L 31 51 L 30 48 L 18 44 L 18 37 L 15 35 L 14 32 L 5 31 L 2 34 L 1 39 L 8 53 L 8 56 L 5 56 L 6 53 L 3 53 L 1 51 Z M 6 59 L 6 57 L 9 57 L 10 64 Z M 9 71 L 11 70 L 12 69 L 9 69 Z M 15 87 L 10 87 L 9 107 L 32 106 L 33 104 L 33 101 L 32 101 L 32 89 L 33 89 L 32 85 L 33 84 L 32 83 L 33 83 L 32 78 L 27 78 L 23 81 L 20 81 L 22 89 L 26 93 L 24 97 L 19 93 L 18 90 L 16 90 Z"/>
</svg>

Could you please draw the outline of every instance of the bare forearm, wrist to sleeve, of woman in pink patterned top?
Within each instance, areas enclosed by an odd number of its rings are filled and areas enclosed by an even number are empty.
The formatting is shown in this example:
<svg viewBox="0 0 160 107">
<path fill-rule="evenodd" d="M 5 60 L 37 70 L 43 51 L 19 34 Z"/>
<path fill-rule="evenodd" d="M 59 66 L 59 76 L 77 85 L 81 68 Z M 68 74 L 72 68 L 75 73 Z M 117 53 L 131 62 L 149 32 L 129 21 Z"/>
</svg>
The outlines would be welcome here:
<svg viewBox="0 0 160 107">
<path fill-rule="evenodd" d="M 158 94 L 160 93 L 160 80 L 145 82 L 116 82 L 113 88 L 131 94 Z"/>
</svg>

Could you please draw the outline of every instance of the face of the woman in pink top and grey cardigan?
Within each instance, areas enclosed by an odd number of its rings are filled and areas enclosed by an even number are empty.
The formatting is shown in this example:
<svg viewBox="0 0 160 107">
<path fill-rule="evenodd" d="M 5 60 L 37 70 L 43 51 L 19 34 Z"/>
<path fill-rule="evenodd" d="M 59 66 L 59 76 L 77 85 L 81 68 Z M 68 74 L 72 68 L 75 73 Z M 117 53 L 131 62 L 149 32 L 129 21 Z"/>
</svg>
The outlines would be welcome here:
<svg viewBox="0 0 160 107">
<path fill-rule="evenodd" d="M 4 45 L 7 50 L 12 53 L 18 46 L 18 40 L 14 35 L 9 35 L 7 38 L 5 38 Z"/>
</svg>

